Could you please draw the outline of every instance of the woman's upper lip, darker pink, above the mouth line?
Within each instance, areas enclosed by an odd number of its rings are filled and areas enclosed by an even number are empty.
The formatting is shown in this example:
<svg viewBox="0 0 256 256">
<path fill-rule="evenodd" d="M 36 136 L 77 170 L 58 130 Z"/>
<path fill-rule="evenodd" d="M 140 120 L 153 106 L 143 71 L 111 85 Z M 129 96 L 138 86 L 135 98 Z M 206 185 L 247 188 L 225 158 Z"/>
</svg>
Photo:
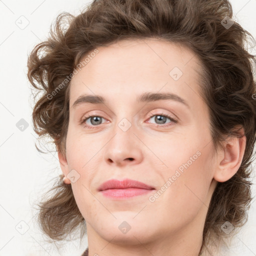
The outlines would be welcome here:
<svg viewBox="0 0 256 256">
<path fill-rule="evenodd" d="M 154 189 L 152 186 L 147 185 L 143 182 L 133 180 L 133 179 L 124 179 L 124 180 L 118 180 L 118 179 L 109 179 L 105 182 L 103 182 L 99 187 L 98 190 L 106 190 L 106 189 L 120 189 L 120 188 L 129 188 L 129 187 L 135 187 L 135 188 L 143 188 L 143 189 Z"/>
</svg>

